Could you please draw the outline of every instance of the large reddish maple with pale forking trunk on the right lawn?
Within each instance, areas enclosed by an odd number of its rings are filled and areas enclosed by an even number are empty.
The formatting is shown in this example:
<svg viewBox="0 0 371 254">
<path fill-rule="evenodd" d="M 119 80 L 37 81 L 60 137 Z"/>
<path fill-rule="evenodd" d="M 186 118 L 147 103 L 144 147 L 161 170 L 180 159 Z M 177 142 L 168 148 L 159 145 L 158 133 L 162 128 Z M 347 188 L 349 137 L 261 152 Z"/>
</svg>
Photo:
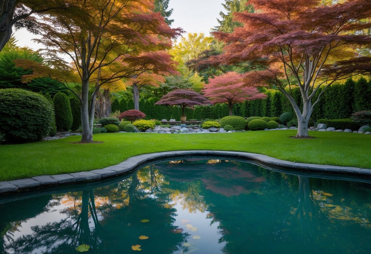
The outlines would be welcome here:
<svg viewBox="0 0 371 254">
<path fill-rule="evenodd" d="M 249 0 L 256 13 L 234 13 L 232 33 L 213 32 L 227 46 L 200 64 L 249 64 L 249 86 L 275 85 L 298 118 L 296 137 L 308 137 L 308 121 L 326 88 L 336 80 L 371 70 L 362 50 L 371 44 L 371 1 L 352 0 L 326 6 L 322 0 Z M 291 86 L 298 86 L 303 109 Z M 324 87 L 316 96 L 320 87 Z"/>
</svg>

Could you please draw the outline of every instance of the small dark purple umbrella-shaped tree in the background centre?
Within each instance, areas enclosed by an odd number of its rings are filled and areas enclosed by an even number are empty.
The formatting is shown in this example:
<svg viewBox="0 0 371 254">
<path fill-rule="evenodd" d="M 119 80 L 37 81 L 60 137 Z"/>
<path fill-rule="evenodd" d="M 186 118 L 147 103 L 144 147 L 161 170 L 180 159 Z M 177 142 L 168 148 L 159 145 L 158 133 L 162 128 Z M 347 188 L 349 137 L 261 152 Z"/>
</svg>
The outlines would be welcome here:
<svg viewBox="0 0 371 254">
<path fill-rule="evenodd" d="M 181 121 L 185 121 L 184 109 L 195 105 L 210 105 L 211 101 L 201 94 L 185 89 L 177 89 L 162 96 L 161 100 L 155 103 L 156 105 L 173 106 L 178 105 L 182 109 Z"/>
</svg>

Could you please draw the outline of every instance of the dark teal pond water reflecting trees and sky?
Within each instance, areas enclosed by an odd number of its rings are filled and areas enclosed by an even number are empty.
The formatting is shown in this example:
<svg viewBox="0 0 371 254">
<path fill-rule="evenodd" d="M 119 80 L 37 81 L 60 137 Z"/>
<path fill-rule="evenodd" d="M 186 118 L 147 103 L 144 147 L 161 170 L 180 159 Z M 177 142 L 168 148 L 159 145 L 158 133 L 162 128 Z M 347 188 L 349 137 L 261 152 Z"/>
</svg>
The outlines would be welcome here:
<svg viewBox="0 0 371 254">
<path fill-rule="evenodd" d="M 81 244 L 87 254 L 135 245 L 142 254 L 370 253 L 371 185 L 350 180 L 239 160 L 158 161 L 121 178 L 0 197 L 0 253 L 78 253 Z"/>
</svg>

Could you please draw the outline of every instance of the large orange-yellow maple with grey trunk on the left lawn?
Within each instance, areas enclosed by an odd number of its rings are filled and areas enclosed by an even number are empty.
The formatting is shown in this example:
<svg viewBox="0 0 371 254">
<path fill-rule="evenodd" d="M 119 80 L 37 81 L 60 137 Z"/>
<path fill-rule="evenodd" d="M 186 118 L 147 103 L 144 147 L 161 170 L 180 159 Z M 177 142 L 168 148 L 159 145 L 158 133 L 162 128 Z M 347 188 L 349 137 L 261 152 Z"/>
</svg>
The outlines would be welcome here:
<svg viewBox="0 0 371 254">
<path fill-rule="evenodd" d="M 47 74 L 63 84 L 73 76 L 76 81 L 77 76 L 81 91 L 70 90 L 81 104 L 81 141 L 91 142 L 99 88 L 103 84 L 114 85 L 122 78 L 135 77 L 142 71 L 166 72 L 169 61 L 163 59 L 166 58 L 164 50 L 171 48 L 171 39 L 183 30 L 171 29 L 160 13 L 154 13 L 151 0 L 71 1 L 79 5 L 79 12 L 55 11 L 53 18 L 38 20 L 37 29 L 42 39 L 36 41 L 44 44 L 49 54 L 62 52 L 69 56 L 73 68 L 60 61 L 50 62 L 53 68 L 49 69 L 35 63 L 32 67 L 34 76 Z M 91 96 L 90 84 L 93 86 Z"/>
</svg>

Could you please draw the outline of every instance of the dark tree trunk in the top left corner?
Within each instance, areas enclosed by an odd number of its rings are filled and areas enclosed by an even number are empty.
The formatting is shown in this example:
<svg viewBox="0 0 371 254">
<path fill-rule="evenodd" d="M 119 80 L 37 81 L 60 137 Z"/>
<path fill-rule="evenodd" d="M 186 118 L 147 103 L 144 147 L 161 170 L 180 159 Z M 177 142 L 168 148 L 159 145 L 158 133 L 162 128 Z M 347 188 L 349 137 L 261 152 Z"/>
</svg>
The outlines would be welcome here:
<svg viewBox="0 0 371 254">
<path fill-rule="evenodd" d="M 5 44 L 9 41 L 12 36 L 12 26 L 9 29 L 5 29 L 13 20 L 14 10 L 18 3 L 18 0 L 0 1 L 0 51 L 3 50 Z"/>
</svg>

